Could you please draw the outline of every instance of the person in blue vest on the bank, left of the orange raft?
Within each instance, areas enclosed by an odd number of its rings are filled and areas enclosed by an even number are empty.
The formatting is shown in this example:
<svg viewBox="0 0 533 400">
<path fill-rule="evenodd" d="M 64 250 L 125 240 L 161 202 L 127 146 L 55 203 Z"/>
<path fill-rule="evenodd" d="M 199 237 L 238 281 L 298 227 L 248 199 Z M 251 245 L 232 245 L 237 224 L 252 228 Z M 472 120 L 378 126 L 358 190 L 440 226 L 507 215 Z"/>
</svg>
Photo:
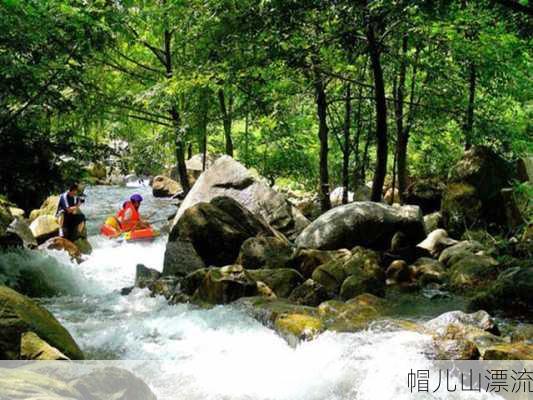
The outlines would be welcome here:
<svg viewBox="0 0 533 400">
<path fill-rule="evenodd" d="M 80 188 L 77 183 L 59 196 L 56 217 L 59 223 L 59 236 L 75 241 L 85 236 L 85 215 L 80 211 L 83 197 L 78 196 Z"/>
</svg>

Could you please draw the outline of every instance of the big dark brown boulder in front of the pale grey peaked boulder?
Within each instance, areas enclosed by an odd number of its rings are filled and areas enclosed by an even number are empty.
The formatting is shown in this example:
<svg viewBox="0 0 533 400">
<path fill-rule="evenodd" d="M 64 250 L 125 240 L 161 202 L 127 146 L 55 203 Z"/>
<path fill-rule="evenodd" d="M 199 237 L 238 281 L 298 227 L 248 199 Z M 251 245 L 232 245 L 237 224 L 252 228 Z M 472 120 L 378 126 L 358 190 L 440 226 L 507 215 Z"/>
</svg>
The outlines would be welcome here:
<svg viewBox="0 0 533 400">
<path fill-rule="evenodd" d="M 233 198 L 215 197 L 183 213 L 170 232 L 168 246 L 189 241 L 205 265 L 224 266 L 235 262 L 246 239 L 258 235 L 276 236 L 276 232 Z"/>
</svg>

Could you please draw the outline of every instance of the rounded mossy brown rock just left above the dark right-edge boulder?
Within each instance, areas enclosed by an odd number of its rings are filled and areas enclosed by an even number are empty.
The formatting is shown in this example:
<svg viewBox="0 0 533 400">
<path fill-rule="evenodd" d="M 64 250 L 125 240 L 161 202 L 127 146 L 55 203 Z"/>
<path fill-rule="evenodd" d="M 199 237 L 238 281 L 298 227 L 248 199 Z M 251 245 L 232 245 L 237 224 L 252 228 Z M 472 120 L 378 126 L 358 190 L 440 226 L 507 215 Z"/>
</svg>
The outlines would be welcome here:
<svg viewBox="0 0 533 400">
<path fill-rule="evenodd" d="M 472 254 L 463 257 L 450 267 L 450 287 L 460 291 L 486 287 L 498 276 L 498 266 L 498 262 L 489 256 Z"/>
</svg>

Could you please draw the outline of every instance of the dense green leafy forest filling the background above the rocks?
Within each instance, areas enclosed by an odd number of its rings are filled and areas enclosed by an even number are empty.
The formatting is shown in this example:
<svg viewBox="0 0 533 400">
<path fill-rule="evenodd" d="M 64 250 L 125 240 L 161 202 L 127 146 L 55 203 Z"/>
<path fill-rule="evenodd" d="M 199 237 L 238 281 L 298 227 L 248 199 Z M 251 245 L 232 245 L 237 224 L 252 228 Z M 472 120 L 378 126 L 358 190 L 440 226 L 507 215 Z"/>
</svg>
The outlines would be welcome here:
<svg viewBox="0 0 533 400">
<path fill-rule="evenodd" d="M 208 152 L 327 209 L 337 186 L 445 177 L 472 145 L 531 154 L 529 3 L 2 0 L 0 193 L 35 207 L 117 157 L 187 191 Z"/>
</svg>

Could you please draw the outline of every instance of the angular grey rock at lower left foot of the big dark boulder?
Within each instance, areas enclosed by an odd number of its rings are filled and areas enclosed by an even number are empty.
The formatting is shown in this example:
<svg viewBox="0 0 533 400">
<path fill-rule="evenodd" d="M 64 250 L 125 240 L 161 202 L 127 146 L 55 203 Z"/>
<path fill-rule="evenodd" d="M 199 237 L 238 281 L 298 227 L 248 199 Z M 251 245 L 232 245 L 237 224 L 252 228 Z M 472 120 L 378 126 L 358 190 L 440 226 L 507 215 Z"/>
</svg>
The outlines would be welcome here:
<svg viewBox="0 0 533 400">
<path fill-rule="evenodd" d="M 196 253 L 192 242 L 180 239 L 168 241 L 162 275 L 185 276 L 202 268 L 205 268 L 205 263 Z"/>
</svg>

